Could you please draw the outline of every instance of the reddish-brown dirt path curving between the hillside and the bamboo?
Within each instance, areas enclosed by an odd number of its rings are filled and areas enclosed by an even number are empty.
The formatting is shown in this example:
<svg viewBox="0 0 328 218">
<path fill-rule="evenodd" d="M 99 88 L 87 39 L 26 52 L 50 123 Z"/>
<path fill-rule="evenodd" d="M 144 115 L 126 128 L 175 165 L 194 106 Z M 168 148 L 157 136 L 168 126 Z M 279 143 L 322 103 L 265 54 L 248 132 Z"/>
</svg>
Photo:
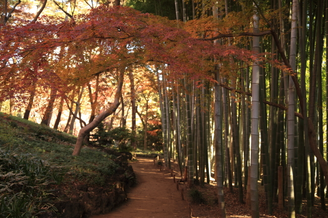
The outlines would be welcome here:
<svg viewBox="0 0 328 218">
<path fill-rule="evenodd" d="M 137 185 L 129 190 L 128 200 L 110 213 L 91 218 L 188 217 L 187 202 L 181 200 L 170 173 L 159 171 L 148 158 L 138 158 L 129 164 L 136 174 Z"/>
</svg>

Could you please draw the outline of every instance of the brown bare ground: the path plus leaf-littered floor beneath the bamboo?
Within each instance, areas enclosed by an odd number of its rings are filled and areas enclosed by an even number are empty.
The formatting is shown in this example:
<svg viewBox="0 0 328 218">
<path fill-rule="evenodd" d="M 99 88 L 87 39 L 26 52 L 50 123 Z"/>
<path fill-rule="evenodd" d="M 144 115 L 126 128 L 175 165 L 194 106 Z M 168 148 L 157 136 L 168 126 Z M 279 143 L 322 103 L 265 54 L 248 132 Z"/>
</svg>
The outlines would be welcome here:
<svg viewBox="0 0 328 218">
<path fill-rule="evenodd" d="M 91 218 L 151 218 L 151 217 L 190 217 L 190 202 L 192 209 L 192 217 L 197 218 L 216 218 L 218 215 L 217 206 L 217 188 L 216 183 L 211 181 L 210 184 L 205 183 L 203 187 L 195 185 L 204 198 L 204 203 L 194 203 L 190 197 L 190 189 L 187 183 L 179 184 L 179 191 L 176 184 L 173 183 L 171 171 L 163 167 L 160 171 L 158 166 L 154 166 L 153 159 L 138 158 L 138 161 L 130 163 L 137 177 L 137 185 L 128 191 L 128 200 L 121 206 L 115 208 L 108 214 L 95 215 Z M 172 164 L 174 174 L 178 173 L 178 165 Z M 180 177 L 176 177 L 178 181 Z M 184 189 L 184 198 L 181 199 L 181 189 Z M 234 193 L 230 193 L 228 188 L 224 188 L 226 211 L 228 217 L 251 217 L 251 211 L 246 204 L 239 203 L 238 188 L 234 188 Z M 246 201 L 246 192 L 244 193 L 244 201 Z M 288 217 L 287 201 L 285 200 L 284 209 L 278 208 L 278 203 L 274 203 L 273 214 L 266 213 L 266 205 L 264 198 L 263 186 L 259 183 L 259 202 L 260 217 Z M 326 201 L 327 202 L 327 201 Z M 326 204 L 328 209 L 328 204 Z M 297 214 L 296 217 L 306 217 L 306 200 L 303 198 L 303 213 Z M 328 218 L 328 212 L 320 208 L 320 199 L 315 197 L 314 207 L 312 209 L 312 217 Z"/>
</svg>

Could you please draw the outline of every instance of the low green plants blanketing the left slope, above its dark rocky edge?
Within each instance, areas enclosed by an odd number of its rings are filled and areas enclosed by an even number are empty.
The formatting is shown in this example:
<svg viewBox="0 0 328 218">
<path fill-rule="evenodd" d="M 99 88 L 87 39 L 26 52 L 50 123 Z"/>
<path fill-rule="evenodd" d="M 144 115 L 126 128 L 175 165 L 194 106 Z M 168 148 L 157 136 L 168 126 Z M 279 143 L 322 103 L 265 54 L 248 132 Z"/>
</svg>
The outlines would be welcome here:
<svg viewBox="0 0 328 218">
<path fill-rule="evenodd" d="M 53 203 L 70 196 L 74 186 L 108 186 L 120 167 L 117 156 L 94 148 L 73 157 L 74 136 L 3 113 L 0 118 L 1 217 L 56 212 Z"/>
</svg>

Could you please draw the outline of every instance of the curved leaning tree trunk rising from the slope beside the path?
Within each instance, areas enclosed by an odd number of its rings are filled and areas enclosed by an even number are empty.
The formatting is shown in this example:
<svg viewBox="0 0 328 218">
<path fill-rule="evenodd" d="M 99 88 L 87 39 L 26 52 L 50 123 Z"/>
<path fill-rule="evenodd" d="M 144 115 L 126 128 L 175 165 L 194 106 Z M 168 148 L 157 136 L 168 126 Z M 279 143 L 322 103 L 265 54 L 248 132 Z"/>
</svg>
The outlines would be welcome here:
<svg viewBox="0 0 328 218">
<path fill-rule="evenodd" d="M 115 93 L 115 98 L 114 102 L 110 107 L 106 107 L 103 112 L 101 112 L 92 122 L 90 122 L 88 125 L 84 126 L 83 128 L 80 129 L 79 135 L 77 136 L 75 148 L 73 151 L 73 156 L 79 156 L 84 137 L 92 131 L 95 127 L 99 125 L 99 123 L 105 119 L 107 116 L 113 114 L 116 109 L 120 105 L 120 97 L 122 93 L 122 87 L 123 87 L 123 79 L 124 79 L 124 70 L 121 69 L 119 72 L 119 79 L 118 79 L 118 85 L 117 85 L 117 90 Z"/>
</svg>

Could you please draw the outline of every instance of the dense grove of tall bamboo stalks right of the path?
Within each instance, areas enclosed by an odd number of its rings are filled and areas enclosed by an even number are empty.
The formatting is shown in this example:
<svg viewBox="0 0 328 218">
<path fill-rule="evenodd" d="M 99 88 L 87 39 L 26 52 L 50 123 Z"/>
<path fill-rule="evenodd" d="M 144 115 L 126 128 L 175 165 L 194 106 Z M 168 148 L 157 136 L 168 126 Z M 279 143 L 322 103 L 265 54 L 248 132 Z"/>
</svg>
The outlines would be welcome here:
<svg viewBox="0 0 328 218">
<path fill-rule="evenodd" d="M 177 1 L 175 4 L 179 26 Z M 328 98 L 322 86 L 327 84 L 323 76 L 327 2 L 192 4 L 193 19 L 196 14 L 198 20 L 191 25 L 199 26 L 198 31 L 194 30 L 195 37 L 270 54 L 252 65 L 213 59 L 216 65 L 208 75 L 214 82 L 186 77 L 167 79 L 165 66 L 156 68 L 162 71 L 162 80 L 157 82 L 166 164 L 170 167 L 170 160 L 176 159 L 181 174 L 188 171 L 184 176 L 190 187 L 209 183 L 214 173 L 222 217 L 226 217 L 224 185 L 231 192 L 233 187 L 238 188 L 240 203 L 246 198 L 252 217 L 259 217 L 255 194 L 258 181 L 265 188 L 268 214 L 272 214 L 273 202 L 279 201 L 282 208 L 285 197 L 289 217 L 301 213 L 302 197 L 306 197 L 307 217 L 312 216 L 314 195 L 320 196 L 325 210 L 327 167 L 323 157 L 327 154 L 323 142 L 327 132 L 323 131 Z M 186 22 L 186 8 L 184 4 L 182 7 L 181 20 Z M 241 14 L 253 12 L 251 7 L 257 13 L 245 19 L 252 23 L 249 31 L 250 26 L 240 24 L 240 19 Z M 209 17 L 237 27 L 206 26 Z M 247 189 L 247 196 L 243 196 L 243 189 Z"/>
</svg>

